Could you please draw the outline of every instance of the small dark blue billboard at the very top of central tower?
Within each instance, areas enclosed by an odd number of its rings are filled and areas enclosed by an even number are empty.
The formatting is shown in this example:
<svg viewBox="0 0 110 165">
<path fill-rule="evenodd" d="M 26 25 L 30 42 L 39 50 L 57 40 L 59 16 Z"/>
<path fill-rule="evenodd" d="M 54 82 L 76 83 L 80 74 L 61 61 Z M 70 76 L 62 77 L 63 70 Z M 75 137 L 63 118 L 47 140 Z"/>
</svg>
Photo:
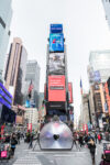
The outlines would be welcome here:
<svg viewBox="0 0 110 165">
<path fill-rule="evenodd" d="M 63 24 L 51 24 L 51 33 L 63 33 Z"/>
</svg>

